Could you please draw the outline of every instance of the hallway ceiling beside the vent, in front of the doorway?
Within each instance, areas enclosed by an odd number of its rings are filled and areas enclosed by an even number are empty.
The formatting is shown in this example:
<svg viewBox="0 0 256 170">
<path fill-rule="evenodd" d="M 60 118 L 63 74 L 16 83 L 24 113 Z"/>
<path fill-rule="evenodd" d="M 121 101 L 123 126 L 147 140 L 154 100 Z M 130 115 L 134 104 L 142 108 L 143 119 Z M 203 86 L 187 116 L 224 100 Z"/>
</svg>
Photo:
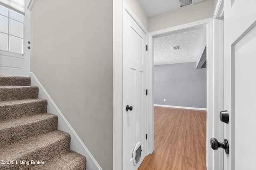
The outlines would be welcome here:
<svg viewBox="0 0 256 170">
<path fill-rule="evenodd" d="M 178 9 L 178 0 L 138 0 L 148 17 Z M 194 0 L 194 4 L 204 0 Z"/>
</svg>

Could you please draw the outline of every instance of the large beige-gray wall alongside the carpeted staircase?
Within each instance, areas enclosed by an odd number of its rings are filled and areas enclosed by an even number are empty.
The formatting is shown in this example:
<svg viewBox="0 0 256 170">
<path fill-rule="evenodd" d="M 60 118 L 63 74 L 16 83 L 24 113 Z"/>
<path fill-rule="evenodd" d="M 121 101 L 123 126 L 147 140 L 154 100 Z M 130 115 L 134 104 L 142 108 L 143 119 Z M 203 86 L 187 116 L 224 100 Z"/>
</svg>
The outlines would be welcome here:
<svg viewBox="0 0 256 170">
<path fill-rule="evenodd" d="M 113 169 L 113 0 L 36 0 L 31 71 L 104 170 Z"/>
</svg>

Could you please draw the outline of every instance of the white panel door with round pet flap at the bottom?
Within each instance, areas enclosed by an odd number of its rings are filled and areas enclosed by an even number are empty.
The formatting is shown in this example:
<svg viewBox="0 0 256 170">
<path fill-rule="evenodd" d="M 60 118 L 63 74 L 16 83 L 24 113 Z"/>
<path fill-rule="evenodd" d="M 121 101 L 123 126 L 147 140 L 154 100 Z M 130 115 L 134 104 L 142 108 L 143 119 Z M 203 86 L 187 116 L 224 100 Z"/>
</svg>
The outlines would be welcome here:
<svg viewBox="0 0 256 170">
<path fill-rule="evenodd" d="M 146 156 L 146 33 L 126 10 L 123 29 L 123 170 L 136 170 Z"/>
</svg>

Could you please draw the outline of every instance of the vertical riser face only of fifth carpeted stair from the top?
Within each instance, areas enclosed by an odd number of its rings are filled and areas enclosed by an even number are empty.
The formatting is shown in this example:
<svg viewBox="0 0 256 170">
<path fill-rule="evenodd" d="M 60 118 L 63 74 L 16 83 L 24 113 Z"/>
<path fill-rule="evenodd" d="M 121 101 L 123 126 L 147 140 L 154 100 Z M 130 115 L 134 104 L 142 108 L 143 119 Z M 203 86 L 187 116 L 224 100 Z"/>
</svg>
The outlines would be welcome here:
<svg viewBox="0 0 256 170">
<path fill-rule="evenodd" d="M 16 161 L 28 161 L 30 163 L 31 160 L 34 160 L 46 162 L 47 160 L 50 160 L 51 158 L 58 156 L 64 152 L 67 152 L 68 150 L 70 150 L 70 135 L 59 141 L 56 141 L 53 144 L 47 145 L 46 147 L 37 150 L 33 150 L 21 156 L 20 158 L 14 159 L 15 164 L 0 164 L 0 170 L 30 169 L 34 165 L 16 164 Z"/>
</svg>

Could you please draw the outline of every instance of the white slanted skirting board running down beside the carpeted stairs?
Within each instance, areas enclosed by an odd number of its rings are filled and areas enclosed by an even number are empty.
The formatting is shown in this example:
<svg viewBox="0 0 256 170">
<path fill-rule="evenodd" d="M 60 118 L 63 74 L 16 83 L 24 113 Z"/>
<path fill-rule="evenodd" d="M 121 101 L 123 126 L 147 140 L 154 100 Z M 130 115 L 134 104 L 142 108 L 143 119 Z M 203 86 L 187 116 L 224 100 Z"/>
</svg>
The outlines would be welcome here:
<svg viewBox="0 0 256 170">
<path fill-rule="evenodd" d="M 38 79 L 33 74 L 33 72 L 30 72 L 29 76 L 31 77 L 31 85 L 38 86 L 39 88 L 38 97 L 46 99 L 48 101 L 47 112 L 53 113 L 58 116 L 58 130 L 65 131 L 70 134 L 71 136 L 70 149 L 86 157 L 86 170 L 102 170 L 98 162 L 92 156 L 90 151 L 86 148 L 82 140 L 78 137 L 74 129 L 68 123 L 64 115 L 61 113 L 60 109 L 58 109 L 56 104 L 53 102 L 52 98 L 46 92 L 46 90 L 44 89 L 42 84 L 38 81 Z"/>
</svg>

